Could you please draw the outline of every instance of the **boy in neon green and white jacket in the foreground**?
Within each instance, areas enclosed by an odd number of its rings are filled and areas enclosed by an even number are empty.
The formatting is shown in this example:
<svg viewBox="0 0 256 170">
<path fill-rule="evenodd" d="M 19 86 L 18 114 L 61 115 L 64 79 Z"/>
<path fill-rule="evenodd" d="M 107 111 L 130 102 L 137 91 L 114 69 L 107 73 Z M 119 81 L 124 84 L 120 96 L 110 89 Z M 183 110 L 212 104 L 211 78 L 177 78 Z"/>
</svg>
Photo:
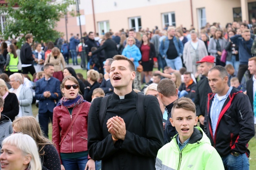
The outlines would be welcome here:
<svg viewBox="0 0 256 170">
<path fill-rule="evenodd" d="M 171 124 L 178 134 L 158 151 L 156 170 L 224 170 L 221 157 L 211 146 L 210 139 L 200 127 L 194 127 L 198 121 L 194 102 L 185 97 L 177 99 L 171 115 Z"/>
</svg>

